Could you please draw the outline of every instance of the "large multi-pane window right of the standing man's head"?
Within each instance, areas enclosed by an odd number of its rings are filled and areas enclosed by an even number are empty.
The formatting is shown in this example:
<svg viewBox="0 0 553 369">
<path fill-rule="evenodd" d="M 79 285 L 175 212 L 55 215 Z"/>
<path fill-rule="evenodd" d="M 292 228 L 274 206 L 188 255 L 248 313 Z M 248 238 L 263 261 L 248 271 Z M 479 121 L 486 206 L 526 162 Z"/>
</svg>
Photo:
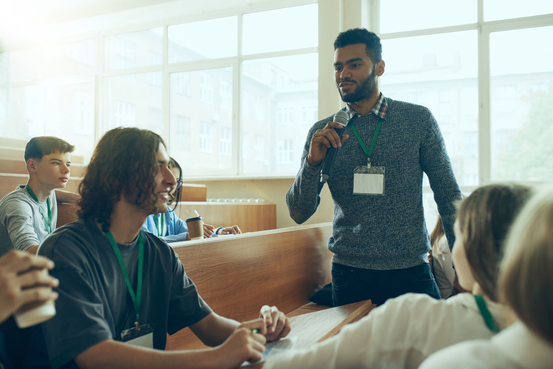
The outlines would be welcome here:
<svg viewBox="0 0 553 369">
<path fill-rule="evenodd" d="M 553 38 L 552 2 L 380 0 L 373 11 L 381 90 L 430 108 L 463 193 L 553 180 L 553 49 L 543 43 Z M 430 231 L 437 211 L 426 176 L 424 191 Z"/>
</svg>

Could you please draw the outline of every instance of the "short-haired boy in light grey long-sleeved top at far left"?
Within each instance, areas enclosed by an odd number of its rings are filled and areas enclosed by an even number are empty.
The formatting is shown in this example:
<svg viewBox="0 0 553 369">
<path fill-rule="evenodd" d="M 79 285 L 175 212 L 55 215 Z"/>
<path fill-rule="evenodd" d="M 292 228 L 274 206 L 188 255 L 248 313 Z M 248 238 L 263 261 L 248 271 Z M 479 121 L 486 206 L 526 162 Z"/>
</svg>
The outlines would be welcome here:
<svg viewBox="0 0 553 369">
<path fill-rule="evenodd" d="M 69 180 L 73 150 L 73 145 L 58 137 L 29 140 L 24 154 L 27 185 L 17 186 L 0 201 L 0 256 L 12 249 L 36 254 L 44 238 L 56 229 L 56 201 L 79 199 L 77 194 L 59 190 Z"/>
</svg>

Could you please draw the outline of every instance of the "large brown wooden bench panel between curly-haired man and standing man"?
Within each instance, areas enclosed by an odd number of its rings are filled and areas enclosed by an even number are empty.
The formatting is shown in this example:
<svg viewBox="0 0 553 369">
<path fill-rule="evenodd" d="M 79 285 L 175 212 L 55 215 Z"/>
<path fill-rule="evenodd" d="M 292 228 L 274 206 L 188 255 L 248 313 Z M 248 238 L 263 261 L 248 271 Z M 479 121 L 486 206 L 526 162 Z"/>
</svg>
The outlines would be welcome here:
<svg viewBox="0 0 553 369">
<path fill-rule="evenodd" d="M 332 225 L 283 228 L 173 245 L 213 311 L 238 321 L 257 318 L 262 305 L 290 313 L 330 282 Z M 168 350 L 202 347 L 190 329 L 169 337 Z"/>
</svg>

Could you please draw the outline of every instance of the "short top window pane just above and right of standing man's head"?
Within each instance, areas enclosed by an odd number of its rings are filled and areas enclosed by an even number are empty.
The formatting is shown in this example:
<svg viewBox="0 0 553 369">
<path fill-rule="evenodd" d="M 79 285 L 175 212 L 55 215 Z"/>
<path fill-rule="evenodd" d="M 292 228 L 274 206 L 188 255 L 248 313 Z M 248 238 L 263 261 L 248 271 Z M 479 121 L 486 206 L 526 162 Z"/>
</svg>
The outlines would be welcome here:
<svg viewBox="0 0 553 369">
<path fill-rule="evenodd" d="M 380 0 L 380 33 L 476 23 L 476 3 L 476 0 Z"/>
</svg>

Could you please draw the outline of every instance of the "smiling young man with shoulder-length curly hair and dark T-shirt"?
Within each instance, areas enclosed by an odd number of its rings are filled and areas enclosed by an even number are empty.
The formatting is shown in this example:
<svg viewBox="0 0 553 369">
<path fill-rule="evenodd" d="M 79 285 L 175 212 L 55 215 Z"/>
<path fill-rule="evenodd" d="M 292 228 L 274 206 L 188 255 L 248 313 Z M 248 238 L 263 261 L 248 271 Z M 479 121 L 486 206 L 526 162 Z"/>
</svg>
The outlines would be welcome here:
<svg viewBox="0 0 553 369">
<path fill-rule="evenodd" d="M 98 142 L 80 186 L 80 219 L 39 250 L 55 263 L 58 314 L 34 330 L 27 367 L 234 368 L 288 334 L 274 306 L 242 324 L 213 313 L 173 249 L 140 230 L 166 211 L 176 184 L 168 164 L 151 131 L 115 128 Z M 212 348 L 164 351 L 166 335 L 187 326 Z"/>
</svg>

